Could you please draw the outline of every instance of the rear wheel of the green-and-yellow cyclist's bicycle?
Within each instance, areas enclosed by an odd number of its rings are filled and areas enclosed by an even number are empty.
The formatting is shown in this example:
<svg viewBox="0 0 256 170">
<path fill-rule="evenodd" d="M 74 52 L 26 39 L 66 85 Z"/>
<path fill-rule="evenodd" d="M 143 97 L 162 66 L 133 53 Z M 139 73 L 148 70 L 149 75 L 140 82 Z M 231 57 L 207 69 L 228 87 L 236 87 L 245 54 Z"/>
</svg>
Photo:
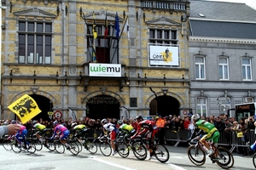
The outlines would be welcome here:
<svg viewBox="0 0 256 170">
<path fill-rule="evenodd" d="M 216 149 L 216 161 L 219 167 L 224 169 L 229 169 L 234 165 L 234 157 L 230 153 L 230 150 L 225 149 L 224 147 L 219 146 Z"/>
</svg>

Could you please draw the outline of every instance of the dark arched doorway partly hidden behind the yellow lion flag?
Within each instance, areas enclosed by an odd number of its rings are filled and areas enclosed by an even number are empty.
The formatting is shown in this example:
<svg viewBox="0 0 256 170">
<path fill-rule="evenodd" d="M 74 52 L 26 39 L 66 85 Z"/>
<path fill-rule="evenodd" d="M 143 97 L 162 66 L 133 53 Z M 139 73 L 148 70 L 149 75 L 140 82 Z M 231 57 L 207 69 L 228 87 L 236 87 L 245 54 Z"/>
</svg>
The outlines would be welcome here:
<svg viewBox="0 0 256 170">
<path fill-rule="evenodd" d="M 42 111 L 37 116 L 34 116 L 32 119 L 39 121 L 40 118 L 42 118 L 44 121 L 49 121 L 50 118 L 48 115 L 48 111 L 52 111 L 52 102 L 42 95 L 30 94 L 30 96 L 37 102 L 39 109 Z"/>
</svg>

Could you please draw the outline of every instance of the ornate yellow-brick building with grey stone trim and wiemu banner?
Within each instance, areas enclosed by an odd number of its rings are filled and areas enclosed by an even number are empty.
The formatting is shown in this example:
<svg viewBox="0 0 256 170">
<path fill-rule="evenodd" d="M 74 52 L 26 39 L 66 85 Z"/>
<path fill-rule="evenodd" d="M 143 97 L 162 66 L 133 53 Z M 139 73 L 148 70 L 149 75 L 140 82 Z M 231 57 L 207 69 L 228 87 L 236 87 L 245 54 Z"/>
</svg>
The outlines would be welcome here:
<svg viewBox="0 0 256 170">
<path fill-rule="evenodd" d="M 100 119 L 189 111 L 188 1 L 2 6 L 2 119 L 15 118 L 8 106 L 23 94 L 42 110 L 35 119 L 67 120 L 68 107 Z"/>
</svg>

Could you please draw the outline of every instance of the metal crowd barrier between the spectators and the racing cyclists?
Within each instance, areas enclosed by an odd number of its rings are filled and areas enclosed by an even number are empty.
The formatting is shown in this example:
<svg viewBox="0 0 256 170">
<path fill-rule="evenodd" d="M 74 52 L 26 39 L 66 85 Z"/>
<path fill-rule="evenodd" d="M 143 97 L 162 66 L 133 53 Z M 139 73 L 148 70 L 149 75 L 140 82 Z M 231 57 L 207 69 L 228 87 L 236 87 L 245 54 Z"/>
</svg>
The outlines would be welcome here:
<svg viewBox="0 0 256 170">
<path fill-rule="evenodd" d="M 88 129 L 87 131 L 88 139 L 95 139 L 100 136 L 102 130 L 96 130 L 93 128 Z M 29 137 L 33 132 L 32 129 L 28 129 L 27 136 Z M 71 130 L 72 133 L 72 130 Z M 253 144 L 255 142 L 255 130 L 249 130 L 247 133 L 244 133 L 242 137 L 237 137 L 238 131 L 229 131 L 229 132 L 220 132 L 220 137 L 218 140 L 219 145 L 227 145 L 230 146 L 230 151 L 236 149 L 236 147 L 247 147 L 248 144 Z M 47 137 L 51 137 L 53 134 L 53 129 L 48 129 L 46 132 Z M 172 142 L 174 146 L 182 142 L 186 142 L 190 137 L 190 130 L 188 129 L 179 129 L 178 131 L 174 131 L 173 129 L 165 129 L 165 139 L 166 143 Z M 158 139 L 158 135 L 155 136 L 155 139 Z"/>
</svg>

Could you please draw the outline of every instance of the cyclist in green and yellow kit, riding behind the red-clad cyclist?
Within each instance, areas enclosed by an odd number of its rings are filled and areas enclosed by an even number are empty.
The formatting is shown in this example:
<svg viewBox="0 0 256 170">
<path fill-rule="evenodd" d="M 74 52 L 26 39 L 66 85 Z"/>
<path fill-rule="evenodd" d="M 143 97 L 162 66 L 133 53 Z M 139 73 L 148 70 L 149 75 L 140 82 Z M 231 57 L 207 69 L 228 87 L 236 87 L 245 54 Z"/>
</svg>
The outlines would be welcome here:
<svg viewBox="0 0 256 170">
<path fill-rule="evenodd" d="M 218 144 L 218 129 L 212 123 L 207 122 L 206 120 L 201 120 L 198 114 L 193 115 L 191 119 L 194 122 L 195 128 L 199 128 L 201 131 L 196 134 L 194 132 L 189 140 L 193 139 L 195 135 L 206 133 L 205 135 L 202 136 L 200 140 L 201 143 L 207 147 L 207 156 L 212 156 L 212 154 L 214 154 L 214 151 L 212 150 L 212 148 L 210 148 L 209 144 L 207 144 L 207 141 L 212 140 L 213 144 Z M 215 146 L 217 147 L 217 145 Z"/>
</svg>

